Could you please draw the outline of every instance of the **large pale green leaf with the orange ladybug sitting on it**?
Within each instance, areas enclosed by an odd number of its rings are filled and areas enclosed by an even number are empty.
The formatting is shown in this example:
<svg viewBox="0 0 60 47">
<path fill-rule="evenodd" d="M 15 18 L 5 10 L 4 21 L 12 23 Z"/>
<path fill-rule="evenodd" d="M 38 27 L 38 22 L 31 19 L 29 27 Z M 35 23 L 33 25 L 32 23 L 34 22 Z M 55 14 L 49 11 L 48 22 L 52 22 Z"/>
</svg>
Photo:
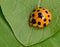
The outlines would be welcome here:
<svg viewBox="0 0 60 47">
<path fill-rule="evenodd" d="M 25 46 L 30 46 L 51 37 L 60 28 L 60 0 L 41 0 L 41 7 L 52 12 L 50 25 L 43 29 L 29 26 L 29 16 L 37 7 L 38 0 L 1 0 L 3 14 L 16 38 Z"/>
</svg>

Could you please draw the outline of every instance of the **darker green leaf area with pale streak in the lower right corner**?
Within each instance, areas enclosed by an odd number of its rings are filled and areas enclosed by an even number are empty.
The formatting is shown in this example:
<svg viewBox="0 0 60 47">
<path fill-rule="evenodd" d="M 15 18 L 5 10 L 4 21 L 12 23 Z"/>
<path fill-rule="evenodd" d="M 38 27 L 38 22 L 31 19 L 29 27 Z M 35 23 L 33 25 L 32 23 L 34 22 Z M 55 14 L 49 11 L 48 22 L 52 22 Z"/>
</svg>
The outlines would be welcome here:
<svg viewBox="0 0 60 47">
<path fill-rule="evenodd" d="M 30 47 L 60 47 L 60 29 L 58 29 L 58 33 L 51 38 Z"/>
</svg>

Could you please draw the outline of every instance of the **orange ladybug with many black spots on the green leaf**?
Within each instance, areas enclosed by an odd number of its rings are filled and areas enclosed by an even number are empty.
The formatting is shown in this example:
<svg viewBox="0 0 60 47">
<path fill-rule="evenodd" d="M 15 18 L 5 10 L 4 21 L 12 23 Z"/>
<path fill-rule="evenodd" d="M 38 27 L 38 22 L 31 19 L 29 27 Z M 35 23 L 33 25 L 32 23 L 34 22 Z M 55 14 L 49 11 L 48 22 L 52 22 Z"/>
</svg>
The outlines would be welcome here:
<svg viewBox="0 0 60 47">
<path fill-rule="evenodd" d="M 47 8 L 36 8 L 32 11 L 29 19 L 29 25 L 43 28 L 47 26 L 52 19 L 52 14 Z"/>
</svg>

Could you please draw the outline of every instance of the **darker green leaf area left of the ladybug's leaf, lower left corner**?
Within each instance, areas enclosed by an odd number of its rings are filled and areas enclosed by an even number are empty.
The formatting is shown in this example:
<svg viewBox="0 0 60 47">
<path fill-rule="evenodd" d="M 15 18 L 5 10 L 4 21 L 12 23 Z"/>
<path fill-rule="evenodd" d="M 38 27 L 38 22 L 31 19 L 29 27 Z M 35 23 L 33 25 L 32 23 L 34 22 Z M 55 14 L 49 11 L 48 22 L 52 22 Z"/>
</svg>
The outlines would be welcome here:
<svg viewBox="0 0 60 47">
<path fill-rule="evenodd" d="M 0 47 L 24 47 L 15 38 L 0 8 Z"/>
</svg>

